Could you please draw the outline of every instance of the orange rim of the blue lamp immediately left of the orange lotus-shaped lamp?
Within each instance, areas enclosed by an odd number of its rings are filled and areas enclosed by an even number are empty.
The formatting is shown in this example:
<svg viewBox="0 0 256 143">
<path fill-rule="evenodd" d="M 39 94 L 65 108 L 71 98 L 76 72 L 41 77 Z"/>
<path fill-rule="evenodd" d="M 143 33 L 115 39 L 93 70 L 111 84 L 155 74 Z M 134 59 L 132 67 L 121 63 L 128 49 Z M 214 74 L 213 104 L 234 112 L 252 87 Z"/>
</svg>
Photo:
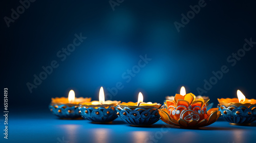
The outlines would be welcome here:
<svg viewBox="0 0 256 143">
<path fill-rule="evenodd" d="M 136 108 L 151 108 L 151 107 L 155 107 L 155 108 L 160 108 L 162 104 L 159 104 L 159 103 L 152 103 L 152 102 L 142 102 L 139 106 L 137 105 L 138 102 L 122 102 L 119 104 L 119 106 L 121 108 L 125 108 L 125 107 L 128 107 L 130 109 L 136 109 Z M 148 105 L 146 105 L 148 104 Z"/>
</svg>

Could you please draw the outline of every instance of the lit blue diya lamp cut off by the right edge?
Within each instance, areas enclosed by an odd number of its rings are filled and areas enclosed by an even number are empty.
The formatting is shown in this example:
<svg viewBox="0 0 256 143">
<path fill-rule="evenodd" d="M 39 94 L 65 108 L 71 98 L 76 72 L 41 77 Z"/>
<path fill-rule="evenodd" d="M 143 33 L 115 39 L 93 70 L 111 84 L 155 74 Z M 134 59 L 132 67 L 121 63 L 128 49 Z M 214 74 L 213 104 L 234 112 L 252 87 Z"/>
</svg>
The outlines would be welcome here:
<svg viewBox="0 0 256 143">
<path fill-rule="evenodd" d="M 256 100 L 246 99 L 238 90 L 238 98 L 218 99 L 221 116 L 231 125 L 249 125 L 256 120 Z"/>
</svg>

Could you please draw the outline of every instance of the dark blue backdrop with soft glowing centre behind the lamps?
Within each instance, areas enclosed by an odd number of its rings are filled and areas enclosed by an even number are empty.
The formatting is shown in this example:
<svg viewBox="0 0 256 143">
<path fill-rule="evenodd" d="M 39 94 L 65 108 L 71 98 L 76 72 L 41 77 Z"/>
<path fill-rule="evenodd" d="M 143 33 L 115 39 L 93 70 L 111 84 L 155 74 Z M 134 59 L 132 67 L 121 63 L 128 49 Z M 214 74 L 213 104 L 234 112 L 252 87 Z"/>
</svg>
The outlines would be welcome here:
<svg viewBox="0 0 256 143">
<path fill-rule="evenodd" d="M 10 110 L 48 110 L 52 97 L 67 97 L 70 89 L 76 97 L 98 100 L 100 86 L 110 93 L 107 88 L 113 89 L 117 83 L 122 83 L 122 89 L 112 100 L 123 102 L 136 102 L 141 91 L 145 102 L 162 103 L 181 86 L 198 95 L 198 88 L 205 90 L 204 80 L 210 79 L 217 83 L 203 95 L 215 106 L 217 98 L 236 97 L 237 89 L 247 98 L 255 98 L 256 45 L 251 44 L 248 50 L 247 44 L 247 51 L 241 50 L 245 39 L 256 41 L 255 3 L 205 1 L 200 11 L 194 7 L 198 3 L 35 1 L 24 12 L 19 9 L 23 13 L 7 24 L 5 17 L 11 19 L 11 9 L 17 11 L 22 4 L 3 1 L 1 88 L 9 89 Z M 197 14 L 189 12 L 190 5 Z M 190 19 L 182 16 L 187 17 L 187 13 Z M 179 23 L 178 30 L 175 22 Z M 80 39 L 83 42 L 74 49 L 69 44 L 80 33 L 87 39 Z M 67 46 L 72 52 L 65 58 L 62 48 Z M 238 60 L 229 57 L 238 51 Z M 151 59 L 139 64 L 144 67 L 138 66 L 140 55 Z M 37 88 L 30 92 L 27 84 L 35 84 L 34 75 L 39 77 L 42 66 L 51 62 L 57 62 L 58 67 L 52 72 L 48 69 L 51 74 L 41 83 L 37 81 Z M 228 72 L 215 81 L 212 71 L 221 70 L 223 65 Z M 129 75 L 127 70 L 133 73 Z"/>
</svg>

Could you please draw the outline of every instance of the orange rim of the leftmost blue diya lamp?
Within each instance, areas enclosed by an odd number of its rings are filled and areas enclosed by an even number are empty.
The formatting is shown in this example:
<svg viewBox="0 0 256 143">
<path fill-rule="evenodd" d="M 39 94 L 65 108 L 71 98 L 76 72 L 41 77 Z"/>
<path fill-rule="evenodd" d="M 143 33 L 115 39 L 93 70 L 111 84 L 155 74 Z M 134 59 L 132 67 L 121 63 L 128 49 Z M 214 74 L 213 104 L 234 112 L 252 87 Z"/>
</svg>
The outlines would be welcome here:
<svg viewBox="0 0 256 143">
<path fill-rule="evenodd" d="M 78 105 L 79 103 L 82 102 L 90 102 L 92 100 L 92 98 L 75 98 L 75 101 L 73 103 L 69 103 L 69 99 L 66 97 L 60 97 L 60 98 L 52 98 L 52 102 L 53 104 L 73 104 L 73 105 Z"/>
</svg>

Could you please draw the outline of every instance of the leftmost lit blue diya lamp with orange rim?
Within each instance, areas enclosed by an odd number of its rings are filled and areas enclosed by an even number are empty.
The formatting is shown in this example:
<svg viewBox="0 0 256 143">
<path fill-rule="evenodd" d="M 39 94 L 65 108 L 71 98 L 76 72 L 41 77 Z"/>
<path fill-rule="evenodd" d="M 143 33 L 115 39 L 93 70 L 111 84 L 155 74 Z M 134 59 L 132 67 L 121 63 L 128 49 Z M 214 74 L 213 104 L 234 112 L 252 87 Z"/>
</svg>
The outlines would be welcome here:
<svg viewBox="0 0 256 143">
<path fill-rule="evenodd" d="M 79 103 L 90 101 L 91 98 L 75 98 L 74 90 L 70 90 L 68 98 L 52 98 L 49 109 L 60 118 L 82 119 L 78 109 Z"/>
</svg>

